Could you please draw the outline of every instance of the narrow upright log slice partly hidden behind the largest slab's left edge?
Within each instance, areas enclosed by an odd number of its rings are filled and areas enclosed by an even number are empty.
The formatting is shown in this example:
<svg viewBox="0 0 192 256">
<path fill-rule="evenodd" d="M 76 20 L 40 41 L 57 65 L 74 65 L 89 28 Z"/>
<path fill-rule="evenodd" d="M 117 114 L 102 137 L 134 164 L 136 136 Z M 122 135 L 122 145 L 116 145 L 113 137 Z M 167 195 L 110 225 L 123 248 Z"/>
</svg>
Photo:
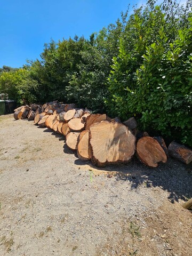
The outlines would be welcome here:
<svg viewBox="0 0 192 256">
<path fill-rule="evenodd" d="M 81 132 L 77 145 L 77 155 L 81 160 L 90 160 L 92 157 L 92 149 L 89 143 L 89 130 Z"/>
</svg>

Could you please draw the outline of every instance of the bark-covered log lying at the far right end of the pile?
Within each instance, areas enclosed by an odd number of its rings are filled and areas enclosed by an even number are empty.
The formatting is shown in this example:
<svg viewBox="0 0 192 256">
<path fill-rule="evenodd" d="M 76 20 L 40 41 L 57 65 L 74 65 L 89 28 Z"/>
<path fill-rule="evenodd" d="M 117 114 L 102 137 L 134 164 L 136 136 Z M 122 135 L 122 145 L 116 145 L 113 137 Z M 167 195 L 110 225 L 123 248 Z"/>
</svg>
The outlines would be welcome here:
<svg viewBox="0 0 192 256">
<path fill-rule="evenodd" d="M 189 164 L 192 161 L 192 150 L 172 141 L 168 147 L 169 155 L 182 163 Z"/>
</svg>

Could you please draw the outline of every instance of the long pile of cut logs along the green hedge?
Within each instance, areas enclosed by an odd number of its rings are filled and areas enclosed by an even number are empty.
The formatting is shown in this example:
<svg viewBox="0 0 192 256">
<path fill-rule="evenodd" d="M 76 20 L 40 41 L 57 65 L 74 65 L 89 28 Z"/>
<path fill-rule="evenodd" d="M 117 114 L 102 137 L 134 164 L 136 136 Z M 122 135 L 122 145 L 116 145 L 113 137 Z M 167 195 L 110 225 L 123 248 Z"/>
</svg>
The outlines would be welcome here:
<svg viewBox="0 0 192 256">
<path fill-rule="evenodd" d="M 167 149 L 162 137 L 152 138 L 147 132 L 139 132 L 134 117 L 121 123 L 118 118 L 91 114 L 88 109 L 58 101 L 21 106 L 14 111 L 15 119 L 28 118 L 63 134 L 67 146 L 77 150 L 80 159 L 91 160 L 97 166 L 129 162 L 135 151 L 140 161 L 151 167 L 165 163 L 169 155 L 186 164 L 192 161 L 189 148 L 173 141 Z"/>
</svg>

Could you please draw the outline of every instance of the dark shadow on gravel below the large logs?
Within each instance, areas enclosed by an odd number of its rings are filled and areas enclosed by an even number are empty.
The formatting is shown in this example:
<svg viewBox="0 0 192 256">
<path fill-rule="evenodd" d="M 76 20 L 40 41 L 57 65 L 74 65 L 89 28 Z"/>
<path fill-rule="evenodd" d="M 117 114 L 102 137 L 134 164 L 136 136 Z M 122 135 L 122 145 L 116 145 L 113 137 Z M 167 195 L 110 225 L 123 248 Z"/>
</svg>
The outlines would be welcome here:
<svg viewBox="0 0 192 256">
<path fill-rule="evenodd" d="M 159 187 L 170 193 L 168 199 L 172 203 L 179 199 L 187 201 L 187 198 L 192 198 L 192 165 L 182 164 L 171 158 L 166 164 L 160 163 L 156 168 L 143 165 L 136 157 L 126 165 L 110 165 L 105 168 L 95 167 L 90 161 L 79 159 L 75 164 L 87 164 L 100 171 L 115 171 L 116 180 L 131 182 L 132 189 L 137 189 L 141 184 L 147 188 Z"/>
</svg>

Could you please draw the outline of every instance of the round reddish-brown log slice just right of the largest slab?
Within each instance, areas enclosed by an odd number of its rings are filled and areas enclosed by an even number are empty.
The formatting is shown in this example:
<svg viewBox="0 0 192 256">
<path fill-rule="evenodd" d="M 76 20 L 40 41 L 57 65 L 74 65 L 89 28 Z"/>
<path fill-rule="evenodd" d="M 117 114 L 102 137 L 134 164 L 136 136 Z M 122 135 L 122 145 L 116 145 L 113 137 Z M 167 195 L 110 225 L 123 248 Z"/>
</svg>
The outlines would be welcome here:
<svg viewBox="0 0 192 256">
<path fill-rule="evenodd" d="M 142 163 L 157 167 L 159 162 L 166 163 L 165 151 L 159 142 L 151 137 L 143 137 L 137 142 L 137 154 Z"/>
</svg>

